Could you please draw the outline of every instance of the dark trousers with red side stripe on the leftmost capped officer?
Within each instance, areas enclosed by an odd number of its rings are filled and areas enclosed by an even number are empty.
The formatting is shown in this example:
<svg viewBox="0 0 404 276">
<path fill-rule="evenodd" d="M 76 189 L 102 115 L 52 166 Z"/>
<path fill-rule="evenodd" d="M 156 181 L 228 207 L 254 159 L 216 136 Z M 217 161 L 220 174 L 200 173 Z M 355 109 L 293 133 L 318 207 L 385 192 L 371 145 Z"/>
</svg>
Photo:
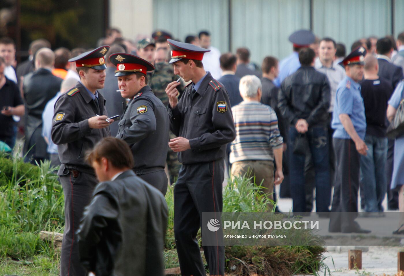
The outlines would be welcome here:
<svg viewBox="0 0 404 276">
<path fill-rule="evenodd" d="M 86 276 L 86 269 L 80 264 L 76 230 L 79 228 L 84 207 L 93 197 L 98 181 L 91 174 L 72 171 L 61 166 L 59 179 L 65 196 L 65 230 L 60 258 L 61 276 Z"/>
</svg>

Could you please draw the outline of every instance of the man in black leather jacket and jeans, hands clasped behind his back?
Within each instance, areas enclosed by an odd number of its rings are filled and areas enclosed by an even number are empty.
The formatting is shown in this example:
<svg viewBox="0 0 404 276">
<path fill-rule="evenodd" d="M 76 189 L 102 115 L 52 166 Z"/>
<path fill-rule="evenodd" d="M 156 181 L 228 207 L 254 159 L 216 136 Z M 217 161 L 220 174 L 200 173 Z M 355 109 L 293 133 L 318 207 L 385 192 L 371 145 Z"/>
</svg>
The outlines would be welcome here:
<svg viewBox="0 0 404 276">
<path fill-rule="evenodd" d="M 328 212 L 331 197 L 327 118 L 330 84 L 326 75 L 314 69 L 315 53 L 299 51 L 301 67 L 281 84 L 278 107 L 290 123 L 290 192 L 293 212 L 305 212 L 305 155 L 295 153 L 295 142 L 308 142 L 316 170 L 316 210 Z M 296 144 L 297 146 L 297 144 Z"/>
</svg>

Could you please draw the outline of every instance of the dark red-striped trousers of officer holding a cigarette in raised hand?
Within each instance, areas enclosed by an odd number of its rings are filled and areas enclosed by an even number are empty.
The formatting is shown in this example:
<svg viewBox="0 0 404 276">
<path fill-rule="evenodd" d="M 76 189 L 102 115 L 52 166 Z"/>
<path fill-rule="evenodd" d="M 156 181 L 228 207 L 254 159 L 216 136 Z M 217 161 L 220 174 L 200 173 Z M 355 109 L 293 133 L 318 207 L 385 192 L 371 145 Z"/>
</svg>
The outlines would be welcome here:
<svg viewBox="0 0 404 276">
<path fill-rule="evenodd" d="M 174 234 L 181 275 L 206 275 L 196 234 L 202 212 L 222 211 L 223 180 L 224 159 L 181 166 L 174 188 Z M 202 240 L 203 236 L 202 232 Z M 224 275 L 224 246 L 204 246 L 203 250 L 210 275 Z"/>
</svg>

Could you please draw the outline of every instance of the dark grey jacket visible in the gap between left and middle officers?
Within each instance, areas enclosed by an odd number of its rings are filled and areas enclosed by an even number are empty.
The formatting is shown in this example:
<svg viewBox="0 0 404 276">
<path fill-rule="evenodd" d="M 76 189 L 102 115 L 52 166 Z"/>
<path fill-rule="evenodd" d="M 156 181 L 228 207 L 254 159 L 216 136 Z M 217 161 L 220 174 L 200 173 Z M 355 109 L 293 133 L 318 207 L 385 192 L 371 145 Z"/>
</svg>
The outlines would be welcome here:
<svg viewBox="0 0 404 276">
<path fill-rule="evenodd" d="M 103 89 L 99 89 L 98 91 L 104 96 L 106 103 L 105 107 L 107 107 L 107 113 L 109 117 L 119 115 L 122 119 L 123 109 L 122 107 L 126 106 L 126 100 L 122 98 L 120 92 L 116 92 L 118 90 L 118 77 L 115 77 L 115 67 L 108 67 L 105 70 L 107 76 L 105 77 L 105 85 Z M 115 137 L 118 134 L 118 125 L 119 121 L 116 121 L 109 125 L 109 130 L 111 130 L 111 136 Z"/>
</svg>

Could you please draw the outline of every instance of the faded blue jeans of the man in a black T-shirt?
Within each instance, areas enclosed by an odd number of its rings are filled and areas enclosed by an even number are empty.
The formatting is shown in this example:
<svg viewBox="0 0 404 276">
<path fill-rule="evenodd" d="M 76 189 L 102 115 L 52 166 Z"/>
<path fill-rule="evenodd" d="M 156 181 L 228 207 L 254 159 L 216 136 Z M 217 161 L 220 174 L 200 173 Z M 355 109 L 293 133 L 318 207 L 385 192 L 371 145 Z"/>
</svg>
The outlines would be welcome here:
<svg viewBox="0 0 404 276">
<path fill-rule="evenodd" d="M 368 155 L 360 156 L 360 190 L 364 193 L 365 212 L 383 212 L 381 203 L 387 192 L 387 138 L 365 136 Z"/>
</svg>

